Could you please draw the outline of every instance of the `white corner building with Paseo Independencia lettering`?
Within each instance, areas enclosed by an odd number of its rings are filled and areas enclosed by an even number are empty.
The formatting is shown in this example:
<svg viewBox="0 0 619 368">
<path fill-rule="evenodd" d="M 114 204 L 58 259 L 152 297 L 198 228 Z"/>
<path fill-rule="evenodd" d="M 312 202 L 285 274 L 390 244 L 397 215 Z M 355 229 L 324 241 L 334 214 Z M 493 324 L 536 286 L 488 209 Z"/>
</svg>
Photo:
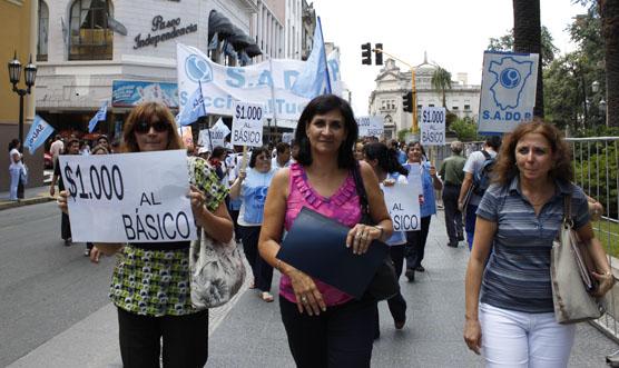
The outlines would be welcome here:
<svg viewBox="0 0 619 368">
<path fill-rule="evenodd" d="M 38 40 L 37 111 L 57 130 L 78 137 L 112 93 L 130 90 L 132 99 L 108 108 L 98 129 L 111 136 L 119 136 L 140 101 L 176 109 L 176 42 L 208 50 L 216 62 L 232 66 L 262 53 L 256 39 L 266 37 L 265 47 L 275 49 L 268 42 L 276 38 L 255 21 L 256 0 L 40 2 L 47 11 L 39 24 L 48 29 Z"/>
</svg>

